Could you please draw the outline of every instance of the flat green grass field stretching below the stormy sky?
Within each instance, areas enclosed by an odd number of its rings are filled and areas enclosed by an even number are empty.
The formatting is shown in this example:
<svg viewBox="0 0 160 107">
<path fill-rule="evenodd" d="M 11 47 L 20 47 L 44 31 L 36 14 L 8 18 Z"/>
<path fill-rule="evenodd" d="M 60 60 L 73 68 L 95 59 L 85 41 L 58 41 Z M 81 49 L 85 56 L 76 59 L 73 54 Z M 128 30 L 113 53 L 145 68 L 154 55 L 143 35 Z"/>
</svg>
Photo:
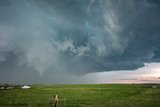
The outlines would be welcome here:
<svg viewBox="0 0 160 107">
<path fill-rule="evenodd" d="M 32 85 L 31 89 L 0 90 L 0 106 L 53 107 L 160 107 L 160 85 Z"/>
</svg>

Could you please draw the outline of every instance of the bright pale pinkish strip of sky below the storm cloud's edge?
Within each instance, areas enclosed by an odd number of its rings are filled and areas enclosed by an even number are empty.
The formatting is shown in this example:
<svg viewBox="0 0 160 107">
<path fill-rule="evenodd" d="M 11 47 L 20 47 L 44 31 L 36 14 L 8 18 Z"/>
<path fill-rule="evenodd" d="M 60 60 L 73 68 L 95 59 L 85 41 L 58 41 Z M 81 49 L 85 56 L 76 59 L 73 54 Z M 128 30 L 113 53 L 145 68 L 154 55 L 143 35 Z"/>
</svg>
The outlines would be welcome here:
<svg viewBox="0 0 160 107">
<path fill-rule="evenodd" d="M 84 78 L 90 78 L 90 83 L 160 83 L 160 63 L 146 63 L 133 71 L 92 73 Z"/>
</svg>

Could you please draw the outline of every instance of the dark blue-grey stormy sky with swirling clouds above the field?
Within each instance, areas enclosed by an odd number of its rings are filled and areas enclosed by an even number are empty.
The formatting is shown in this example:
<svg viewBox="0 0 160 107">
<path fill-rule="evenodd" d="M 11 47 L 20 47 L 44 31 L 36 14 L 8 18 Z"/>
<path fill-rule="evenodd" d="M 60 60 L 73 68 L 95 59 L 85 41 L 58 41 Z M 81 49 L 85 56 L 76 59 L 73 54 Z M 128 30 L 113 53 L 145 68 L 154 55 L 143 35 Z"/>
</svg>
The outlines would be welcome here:
<svg viewBox="0 0 160 107">
<path fill-rule="evenodd" d="M 137 79 L 159 62 L 159 0 L 0 0 L 0 83 Z"/>
</svg>

